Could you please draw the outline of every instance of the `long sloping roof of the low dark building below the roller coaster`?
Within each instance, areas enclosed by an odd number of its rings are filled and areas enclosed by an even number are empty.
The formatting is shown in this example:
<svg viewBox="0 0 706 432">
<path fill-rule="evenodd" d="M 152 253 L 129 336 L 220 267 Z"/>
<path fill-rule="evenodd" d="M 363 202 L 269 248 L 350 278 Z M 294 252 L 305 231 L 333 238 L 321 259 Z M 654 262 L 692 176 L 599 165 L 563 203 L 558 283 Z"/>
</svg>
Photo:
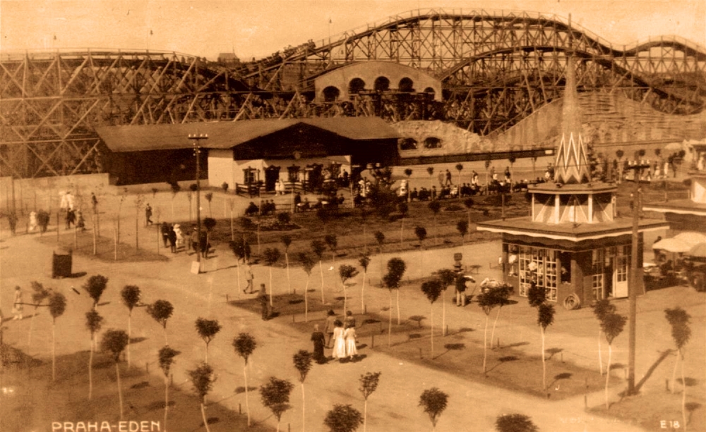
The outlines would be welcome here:
<svg viewBox="0 0 706 432">
<path fill-rule="evenodd" d="M 112 152 L 187 149 L 190 134 L 208 135 L 201 147 L 229 149 L 294 125 L 306 124 L 351 140 L 396 139 L 400 134 L 378 117 L 286 118 L 178 125 L 105 126 L 96 131 Z"/>
</svg>

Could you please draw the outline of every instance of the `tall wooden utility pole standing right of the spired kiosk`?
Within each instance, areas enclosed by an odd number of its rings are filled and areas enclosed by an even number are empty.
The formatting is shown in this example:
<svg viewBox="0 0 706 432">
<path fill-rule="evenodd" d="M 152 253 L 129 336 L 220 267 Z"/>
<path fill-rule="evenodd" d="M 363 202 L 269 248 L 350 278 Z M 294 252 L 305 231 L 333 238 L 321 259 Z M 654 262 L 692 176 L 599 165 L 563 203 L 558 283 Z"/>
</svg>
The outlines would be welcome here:
<svg viewBox="0 0 706 432">
<path fill-rule="evenodd" d="M 635 394 L 635 338 L 637 327 L 635 319 L 638 311 L 638 248 L 640 237 L 640 176 L 642 170 L 650 167 L 650 161 L 633 161 L 628 165 L 628 169 L 633 171 L 633 181 L 635 190 L 633 192 L 633 245 L 630 252 L 630 285 L 628 286 L 628 300 L 630 309 L 628 311 L 628 395 Z"/>
</svg>

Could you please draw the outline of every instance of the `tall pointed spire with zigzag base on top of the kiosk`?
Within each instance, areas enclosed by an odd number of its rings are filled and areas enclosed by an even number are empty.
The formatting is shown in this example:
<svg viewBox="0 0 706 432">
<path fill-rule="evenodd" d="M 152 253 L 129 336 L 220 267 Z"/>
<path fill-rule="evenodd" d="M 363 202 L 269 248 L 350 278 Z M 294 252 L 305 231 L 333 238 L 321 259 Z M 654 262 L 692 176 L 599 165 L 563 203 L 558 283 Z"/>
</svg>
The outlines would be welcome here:
<svg viewBox="0 0 706 432">
<path fill-rule="evenodd" d="M 571 51 L 566 61 L 566 87 L 561 112 L 561 142 L 556 152 L 556 183 L 588 183 L 590 167 L 581 137 L 581 118 L 576 92 L 576 66 Z"/>
</svg>

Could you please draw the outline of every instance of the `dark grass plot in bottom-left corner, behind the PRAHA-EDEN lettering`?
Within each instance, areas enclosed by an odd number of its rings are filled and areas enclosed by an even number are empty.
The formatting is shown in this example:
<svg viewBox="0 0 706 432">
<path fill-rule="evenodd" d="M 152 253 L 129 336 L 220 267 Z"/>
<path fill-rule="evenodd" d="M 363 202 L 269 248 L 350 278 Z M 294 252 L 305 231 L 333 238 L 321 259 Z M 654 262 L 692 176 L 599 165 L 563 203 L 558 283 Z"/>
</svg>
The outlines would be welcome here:
<svg viewBox="0 0 706 432">
<path fill-rule="evenodd" d="M 52 382 L 51 360 L 31 359 L 8 345 L 1 345 L 3 371 L 3 402 L 0 407 L 2 431 L 51 431 L 54 422 L 70 422 L 78 427 L 84 422 L 103 421 L 119 428 L 120 412 L 116 371 L 112 358 L 95 354 L 93 359 L 93 397 L 88 400 L 88 352 L 61 356 L 56 359 L 56 381 Z M 178 359 L 178 357 L 177 357 Z M 164 431 L 164 380 L 144 369 L 128 369 L 120 364 L 121 387 L 124 400 L 123 421 L 148 424 L 158 422 Z M 162 376 L 160 374 L 160 376 Z M 169 390 L 169 431 L 203 430 L 198 397 L 192 394 L 191 383 Z M 186 390 L 186 391 L 184 391 Z M 217 431 L 272 431 L 261 424 L 247 428 L 247 416 L 226 409 L 207 396 L 208 424 Z M 134 424 L 133 424 L 134 425 Z M 129 424 L 125 426 L 128 429 Z M 71 430 L 71 429 L 68 429 Z M 78 429 L 80 430 L 80 429 Z M 132 430 L 138 430 L 133 428 Z"/>
</svg>

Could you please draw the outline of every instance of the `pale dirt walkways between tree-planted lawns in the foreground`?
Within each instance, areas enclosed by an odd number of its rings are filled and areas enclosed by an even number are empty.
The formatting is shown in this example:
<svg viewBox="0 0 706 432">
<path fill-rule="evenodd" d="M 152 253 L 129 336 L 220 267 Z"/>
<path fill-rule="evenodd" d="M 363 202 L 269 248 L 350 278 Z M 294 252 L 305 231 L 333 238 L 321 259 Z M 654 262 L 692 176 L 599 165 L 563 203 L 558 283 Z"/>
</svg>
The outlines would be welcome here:
<svg viewBox="0 0 706 432">
<path fill-rule="evenodd" d="M 6 316 L 11 309 L 13 287 L 23 286 L 25 297 L 29 298 L 29 281 L 38 280 L 45 286 L 64 292 L 69 300 L 66 314 L 59 318 L 56 325 L 57 335 L 61 335 L 57 344 L 57 353 L 88 350 L 89 335 L 83 321 L 90 302 L 85 292 L 80 290 L 80 285 L 83 285 L 86 276 L 77 279 L 52 280 L 49 278 L 51 247 L 36 242 L 32 235 L 20 235 L 9 239 L 5 235 L 3 237 L 5 241 L 0 244 L 4 248 L 0 252 L 2 301 L 0 307 Z M 397 256 L 407 261 L 409 278 L 417 278 L 427 276 L 442 266 L 449 266 L 454 252 L 456 252 L 455 249 L 441 249 L 427 253 L 405 252 Z M 499 244 L 467 246 L 463 252 L 465 257 L 474 257 L 472 260 L 465 259 L 466 262 L 473 261 L 481 264 L 480 273 L 477 275 L 478 280 L 486 276 L 499 276 L 497 269 L 489 269 L 486 264 L 496 261 L 500 254 Z M 227 304 L 227 296 L 229 299 L 243 296 L 237 290 L 235 259 L 228 250 L 217 250 L 215 258 L 206 261 L 207 272 L 198 276 L 189 273 L 192 258 L 181 253 L 176 257 L 170 257 L 167 262 L 113 264 L 75 256 L 73 269 L 75 272 L 86 271 L 87 276 L 100 273 L 109 278 L 109 288 L 99 307 L 100 313 L 106 318 L 104 329 L 127 326 L 127 309 L 121 304 L 119 298 L 119 291 L 124 285 L 138 285 L 143 291 L 145 303 L 164 299 L 174 304 L 174 316 L 167 325 L 167 335 L 169 345 L 182 352 L 177 357 L 174 369 L 174 383 L 180 388 L 187 390 L 191 388 L 191 384 L 186 382 L 185 371 L 193 369 L 197 362 L 203 359 L 204 344 L 198 338 L 193 322 L 199 316 L 218 319 L 223 329 L 211 343 L 209 350 L 210 363 L 215 367 L 218 376 L 215 388 L 208 397 L 210 402 L 221 402 L 232 409 L 238 409 L 241 405 L 242 409 L 245 409 L 244 395 L 234 394 L 234 389 L 244 384 L 243 362 L 234 354 L 231 342 L 240 332 L 246 331 L 253 334 L 260 346 L 251 359 L 249 384 L 257 386 L 270 375 L 287 378 L 297 383 L 297 388 L 292 392 L 293 408 L 284 414 L 282 421 L 291 424 L 294 431 L 301 429 L 301 389 L 298 387 L 297 373 L 292 366 L 292 354 L 299 349 L 311 350 L 308 334 L 302 335 L 289 326 L 287 320 L 291 320 L 290 316 L 264 322 L 258 314 Z M 374 256 L 369 267 L 369 282 L 372 284 L 378 283 L 379 280 L 379 258 Z M 388 258 L 383 256 L 384 261 Z M 336 265 L 343 263 L 357 264 L 349 259 L 337 261 Z M 340 287 L 340 282 L 335 276 L 335 269 L 328 270 L 329 268 L 330 264 L 324 269 L 327 295 L 342 295 L 341 288 L 333 288 Z M 256 283 L 267 282 L 268 269 L 263 266 L 255 266 L 254 269 Z M 292 285 L 301 292 L 306 282 L 304 273 L 300 269 L 292 269 L 290 272 Z M 242 273 L 241 278 L 243 278 Z M 275 294 L 286 291 L 287 278 L 284 269 L 273 269 L 273 280 Z M 349 296 L 352 297 L 352 307 L 356 310 L 359 307 L 357 294 L 361 285 L 361 276 L 354 280 L 354 283 L 356 285 L 349 290 Z M 77 288 L 80 295 L 76 295 L 71 290 L 72 287 Z M 310 288 L 316 288 L 318 293 L 318 287 L 318 272 L 314 271 Z M 366 288 L 366 292 L 369 310 L 387 304 L 387 290 L 371 287 Z M 520 349 L 537 353 L 540 350 L 539 333 L 534 326 L 532 311 L 525 306 L 524 299 L 517 297 L 515 300 L 519 303 L 503 311 L 496 332 L 503 345 L 529 342 Z M 672 302 L 674 304 L 671 304 Z M 659 351 L 671 348 L 669 328 L 664 321 L 662 309 L 674 307 L 677 303 L 687 307 L 693 316 L 693 336 L 688 346 L 686 374 L 698 380 L 698 389 L 702 391 L 703 383 L 706 381 L 702 359 L 706 354 L 700 341 L 706 339 L 705 302 L 702 295 L 686 288 L 650 292 L 640 298 L 638 302 L 640 313 L 638 378 L 644 373 L 643 371 L 649 369 L 659 355 Z M 619 301 L 616 304 L 619 311 L 622 313 L 626 311 L 627 302 Z M 425 316 L 429 314 L 429 303 L 422 297 L 418 288 L 403 291 L 401 308 L 403 319 L 416 314 Z M 510 309 L 513 310 L 510 311 Z M 27 308 L 25 312 L 29 314 Z M 484 323 L 484 314 L 475 304 L 465 308 L 447 307 L 447 314 L 447 321 L 452 329 L 460 327 L 479 329 Z M 26 349 L 29 326 L 28 319 L 7 322 L 5 341 L 20 349 Z M 48 358 L 51 352 L 51 332 L 48 331 L 51 328 L 51 318 L 44 309 L 40 309 L 40 315 L 36 317 L 33 326 L 35 332 L 28 352 L 37 357 Z M 597 323 L 590 309 L 570 312 L 558 309 L 556 323 L 549 328 L 547 347 L 561 347 L 563 359 L 567 362 L 597 368 L 596 333 Z M 145 314 L 142 308 L 133 313 L 132 336 L 144 338 L 131 345 L 133 364 L 147 367 L 155 374 L 161 374 L 157 369 L 157 350 L 164 345 L 162 328 Z M 474 332 L 471 337 L 482 338 L 482 332 Z M 614 362 L 627 363 L 626 345 L 627 333 L 623 333 L 614 342 Z M 482 383 L 465 381 L 453 374 L 431 370 L 411 362 L 402 362 L 395 357 L 367 348 L 361 350 L 361 354 L 367 356 L 361 362 L 313 367 L 305 383 L 306 427 L 309 430 L 322 429 L 323 416 L 335 403 L 350 403 L 362 410 L 363 402 L 357 388 L 358 378 L 365 371 L 383 373 L 380 387 L 376 393 L 373 393 L 369 403 L 368 426 L 371 431 L 390 430 L 390 428 L 407 431 L 429 430 L 431 426 L 429 419 L 417 405 L 421 391 L 430 387 L 438 387 L 450 395 L 448 409 L 441 416 L 437 431 L 490 431 L 496 416 L 514 412 L 531 416 L 542 431 L 640 430 L 636 426 L 620 423 L 618 419 L 602 419 L 586 414 L 582 397 L 561 401 L 544 400 L 493 388 Z M 673 359 L 670 357 L 652 372 L 652 377 L 643 387 L 643 393 L 664 388 L 664 377 L 671 376 L 672 362 Z M 477 367 L 477 365 L 469 365 L 469 367 Z M 622 388 L 611 388 L 612 400 L 618 399 L 616 396 L 618 390 Z M 692 391 L 697 393 L 697 390 Z M 589 405 L 600 403 L 602 403 L 602 393 L 589 395 Z M 262 407 L 257 393 L 251 393 L 250 406 L 253 419 L 275 423 L 271 414 Z M 193 430 L 195 427 L 196 424 L 186 429 Z"/>
</svg>

